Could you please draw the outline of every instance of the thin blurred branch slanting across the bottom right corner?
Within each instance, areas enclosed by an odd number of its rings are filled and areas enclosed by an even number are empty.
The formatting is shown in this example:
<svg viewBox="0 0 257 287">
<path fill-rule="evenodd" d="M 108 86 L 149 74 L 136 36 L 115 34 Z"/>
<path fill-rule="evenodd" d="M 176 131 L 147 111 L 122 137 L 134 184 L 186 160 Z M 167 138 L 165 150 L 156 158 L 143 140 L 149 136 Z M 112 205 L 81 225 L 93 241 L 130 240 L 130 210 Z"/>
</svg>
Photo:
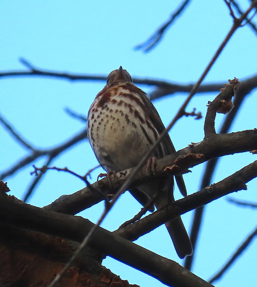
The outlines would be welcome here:
<svg viewBox="0 0 257 287">
<path fill-rule="evenodd" d="M 217 274 L 215 274 L 209 282 L 212 284 L 213 282 L 221 279 L 223 274 L 231 267 L 231 265 L 238 259 L 238 257 L 246 250 L 246 248 L 250 245 L 253 241 L 254 237 L 257 235 L 257 227 L 254 231 L 246 238 L 246 240 L 237 248 L 235 253 L 230 257 L 227 263 L 221 268 Z"/>
</svg>

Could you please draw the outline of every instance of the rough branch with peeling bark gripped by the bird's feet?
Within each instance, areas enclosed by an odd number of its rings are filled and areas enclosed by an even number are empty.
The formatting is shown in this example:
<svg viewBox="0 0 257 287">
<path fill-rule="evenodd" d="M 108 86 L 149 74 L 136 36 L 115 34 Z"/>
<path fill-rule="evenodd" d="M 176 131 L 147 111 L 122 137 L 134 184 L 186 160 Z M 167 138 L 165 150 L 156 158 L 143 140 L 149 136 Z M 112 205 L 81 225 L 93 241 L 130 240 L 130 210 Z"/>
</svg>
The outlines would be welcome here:
<svg viewBox="0 0 257 287">
<path fill-rule="evenodd" d="M 187 168 L 196 166 L 202 162 L 208 161 L 212 158 L 225 156 L 229 154 L 235 154 L 238 152 L 246 152 L 256 149 L 257 147 L 257 130 L 240 131 L 231 134 L 217 134 L 210 139 L 204 139 L 200 143 L 186 147 L 177 151 L 174 154 L 166 156 L 156 161 L 156 174 L 163 176 L 165 168 L 173 166 L 176 160 L 176 165 L 180 166 L 179 172 L 183 172 Z M 199 159 L 197 155 L 202 155 Z M 181 162 L 181 159 L 184 162 Z M 101 179 L 91 186 L 98 190 L 98 193 L 91 192 L 87 187 L 73 193 L 71 195 L 62 195 L 59 199 L 53 203 L 45 206 L 48 210 L 53 210 L 65 214 L 77 214 L 78 212 L 89 208 L 90 206 L 102 201 L 104 198 L 100 196 L 100 193 L 105 195 L 113 193 L 126 181 L 128 174 L 130 174 L 134 168 L 118 172 L 117 176 L 112 176 L 111 186 L 107 178 Z M 140 184 L 145 178 L 149 179 L 149 174 L 145 167 L 141 168 L 136 174 L 133 180 L 133 184 L 130 184 L 129 188 L 133 188 Z"/>
</svg>

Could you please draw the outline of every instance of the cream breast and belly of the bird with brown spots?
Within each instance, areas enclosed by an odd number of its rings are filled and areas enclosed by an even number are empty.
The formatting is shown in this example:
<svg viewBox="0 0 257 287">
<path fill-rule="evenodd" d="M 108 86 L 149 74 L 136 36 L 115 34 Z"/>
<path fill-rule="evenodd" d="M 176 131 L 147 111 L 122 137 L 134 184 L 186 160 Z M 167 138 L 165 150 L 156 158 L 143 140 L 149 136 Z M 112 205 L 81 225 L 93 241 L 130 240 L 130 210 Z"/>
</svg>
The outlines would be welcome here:
<svg viewBox="0 0 257 287">
<path fill-rule="evenodd" d="M 134 167 L 158 133 L 144 113 L 143 101 L 128 90 L 96 97 L 88 113 L 88 138 L 102 166 L 120 171 Z"/>
</svg>

